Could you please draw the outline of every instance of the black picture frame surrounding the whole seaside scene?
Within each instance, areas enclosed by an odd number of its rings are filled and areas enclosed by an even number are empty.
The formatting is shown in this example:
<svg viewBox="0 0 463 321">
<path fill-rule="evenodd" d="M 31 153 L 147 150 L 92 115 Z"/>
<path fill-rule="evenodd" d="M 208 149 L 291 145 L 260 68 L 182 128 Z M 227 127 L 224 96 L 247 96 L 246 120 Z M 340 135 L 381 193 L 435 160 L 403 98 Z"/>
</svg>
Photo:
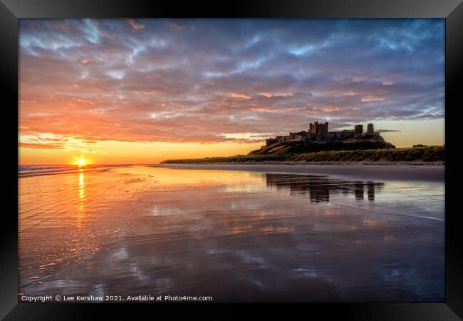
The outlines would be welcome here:
<svg viewBox="0 0 463 321">
<path fill-rule="evenodd" d="M 3 111 L 4 166 L 6 182 L 4 202 L 8 205 L 1 217 L 1 300 L 0 317 L 4 320 L 85 320 L 95 313 L 115 314 L 157 310 L 159 304 L 18 304 L 18 19 L 21 18 L 160 18 L 160 17 L 248 17 L 248 18 L 444 18 L 446 23 L 445 66 L 445 137 L 446 137 L 446 290 L 444 303 L 397 304 L 305 304 L 286 305 L 288 310 L 306 315 L 315 312 L 324 317 L 333 315 L 353 320 L 461 320 L 463 317 L 463 250 L 460 238 L 459 211 L 459 128 L 458 108 L 462 102 L 463 74 L 463 4 L 462 0 L 249 0 L 217 1 L 200 4 L 197 1 L 148 0 L 0 0 L 0 74 L 4 95 Z M 167 305 L 173 317 L 186 310 L 211 305 Z M 235 306 L 220 307 L 221 315 L 238 314 Z M 278 305 L 258 305 L 259 312 L 274 312 Z M 217 310 L 217 309 L 214 309 Z M 206 312 L 207 313 L 207 312 Z M 154 315 L 153 315 L 154 316 Z"/>
</svg>

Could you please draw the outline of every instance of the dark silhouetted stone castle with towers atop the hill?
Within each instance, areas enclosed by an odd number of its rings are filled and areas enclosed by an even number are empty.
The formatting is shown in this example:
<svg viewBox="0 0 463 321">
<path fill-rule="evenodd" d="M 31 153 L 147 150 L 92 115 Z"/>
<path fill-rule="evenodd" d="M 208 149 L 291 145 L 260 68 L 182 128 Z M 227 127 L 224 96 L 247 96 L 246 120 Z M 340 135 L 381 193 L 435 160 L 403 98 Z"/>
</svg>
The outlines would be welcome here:
<svg viewBox="0 0 463 321">
<path fill-rule="evenodd" d="M 265 147 L 274 143 L 289 143 L 292 141 L 340 141 L 348 138 L 356 138 L 360 136 L 379 136 L 380 133 L 375 132 L 373 123 L 367 125 L 367 131 L 363 133 L 363 125 L 355 125 L 354 129 L 343 131 L 328 131 L 328 122 L 310 123 L 308 131 L 298 131 L 289 133 L 288 136 L 276 136 L 265 140 Z M 264 147 L 264 146 L 262 146 Z"/>
</svg>

